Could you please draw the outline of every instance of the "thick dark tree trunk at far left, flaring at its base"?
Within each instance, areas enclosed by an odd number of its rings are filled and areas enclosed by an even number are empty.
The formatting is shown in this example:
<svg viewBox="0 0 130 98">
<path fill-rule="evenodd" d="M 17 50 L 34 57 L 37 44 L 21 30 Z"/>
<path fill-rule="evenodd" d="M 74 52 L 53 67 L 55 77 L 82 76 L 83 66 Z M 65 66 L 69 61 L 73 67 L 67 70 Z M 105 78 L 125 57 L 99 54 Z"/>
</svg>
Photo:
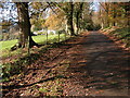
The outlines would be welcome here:
<svg viewBox="0 0 130 98">
<path fill-rule="evenodd" d="M 30 34 L 30 21 L 28 13 L 28 2 L 16 2 L 17 14 L 18 14 L 18 25 L 20 25 L 20 39 L 18 47 L 27 47 L 29 40 L 29 47 L 38 46 Z"/>
</svg>

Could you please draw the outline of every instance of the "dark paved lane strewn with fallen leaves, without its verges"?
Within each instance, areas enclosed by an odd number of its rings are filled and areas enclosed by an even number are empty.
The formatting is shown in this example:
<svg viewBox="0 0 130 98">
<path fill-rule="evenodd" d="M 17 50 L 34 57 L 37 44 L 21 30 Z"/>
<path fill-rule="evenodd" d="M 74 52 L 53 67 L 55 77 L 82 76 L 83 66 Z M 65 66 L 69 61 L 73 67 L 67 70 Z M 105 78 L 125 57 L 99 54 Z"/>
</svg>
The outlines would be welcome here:
<svg viewBox="0 0 130 98">
<path fill-rule="evenodd" d="M 128 58 L 130 53 L 99 32 L 90 32 L 72 53 L 64 95 L 128 96 Z M 74 48 L 74 51 L 76 51 Z M 72 50 L 73 51 L 73 50 Z M 70 58 L 69 58 L 70 59 Z M 72 73 L 72 74 L 70 74 Z"/>
</svg>

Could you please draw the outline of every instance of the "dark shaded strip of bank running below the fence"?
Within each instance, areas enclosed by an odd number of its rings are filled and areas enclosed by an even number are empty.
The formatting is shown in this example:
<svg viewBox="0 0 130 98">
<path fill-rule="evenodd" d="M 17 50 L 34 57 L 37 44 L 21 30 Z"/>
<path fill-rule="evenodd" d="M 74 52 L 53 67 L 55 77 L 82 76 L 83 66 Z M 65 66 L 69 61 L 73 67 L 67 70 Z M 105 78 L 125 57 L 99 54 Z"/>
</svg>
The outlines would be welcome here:
<svg viewBox="0 0 130 98">
<path fill-rule="evenodd" d="M 44 56 L 44 53 L 49 54 L 50 49 L 62 48 L 63 46 L 66 46 L 66 47 L 63 47 L 63 49 L 69 49 L 70 47 L 73 47 L 73 45 L 68 45 L 67 42 L 70 40 L 74 40 L 74 39 L 75 38 L 73 37 L 73 38 L 68 38 L 67 40 L 64 40 L 61 42 L 48 44 L 47 47 L 46 46 L 41 47 L 41 49 L 38 50 L 36 53 L 30 53 L 30 54 L 26 54 L 24 57 L 20 57 L 20 59 L 17 61 L 10 63 L 11 70 L 8 74 L 4 74 L 2 76 L 2 78 L 4 78 L 4 77 L 6 78 L 10 76 L 20 74 L 20 73 L 27 73 L 28 70 L 32 70 L 32 69 L 26 69 L 27 65 L 34 64 L 35 62 L 37 62 L 39 60 L 39 58 L 43 58 L 44 61 L 42 61 L 42 63 L 46 61 L 52 61 L 51 57 L 47 57 L 47 56 Z M 34 70 L 35 69 L 37 70 L 38 68 L 34 66 Z M 44 66 L 43 69 L 49 69 L 49 66 Z M 3 73 L 4 73 L 4 69 L 3 69 Z"/>
</svg>

